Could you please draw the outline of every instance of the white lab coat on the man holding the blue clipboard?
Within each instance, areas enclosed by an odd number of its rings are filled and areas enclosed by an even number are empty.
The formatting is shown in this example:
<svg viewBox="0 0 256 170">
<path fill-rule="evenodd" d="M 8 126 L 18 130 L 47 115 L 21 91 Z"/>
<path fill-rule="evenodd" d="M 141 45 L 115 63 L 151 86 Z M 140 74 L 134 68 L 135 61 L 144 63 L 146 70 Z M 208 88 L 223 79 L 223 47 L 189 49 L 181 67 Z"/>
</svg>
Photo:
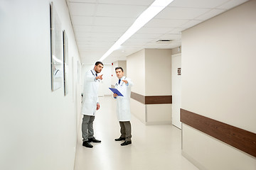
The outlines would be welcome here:
<svg viewBox="0 0 256 170">
<path fill-rule="evenodd" d="M 122 80 L 128 81 L 127 84 Z M 117 119 L 118 121 L 130 121 L 131 120 L 131 111 L 130 111 L 130 97 L 131 97 L 131 87 L 133 83 L 132 80 L 127 77 L 122 77 L 120 84 L 117 83 L 114 87 L 120 91 L 123 96 L 117 96 Z"/>
</svg>

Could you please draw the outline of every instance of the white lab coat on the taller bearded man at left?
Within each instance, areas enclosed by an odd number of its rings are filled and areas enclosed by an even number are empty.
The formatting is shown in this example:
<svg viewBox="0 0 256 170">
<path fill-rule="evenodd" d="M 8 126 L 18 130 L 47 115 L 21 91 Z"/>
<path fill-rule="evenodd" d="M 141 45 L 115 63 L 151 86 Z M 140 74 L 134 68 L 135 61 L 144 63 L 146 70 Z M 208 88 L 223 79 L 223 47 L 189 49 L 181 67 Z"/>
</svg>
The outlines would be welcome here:
<svg viewBox="0 0 256 170">
<path fill-rule="evenodd" d="M 94 70 L 89 70 L 85 73 L 83 100 L 82 100 L 82 114 L 95 115 L 99 89 L 99 79 L 95 79 L 96 74 Z"/>
</svg>

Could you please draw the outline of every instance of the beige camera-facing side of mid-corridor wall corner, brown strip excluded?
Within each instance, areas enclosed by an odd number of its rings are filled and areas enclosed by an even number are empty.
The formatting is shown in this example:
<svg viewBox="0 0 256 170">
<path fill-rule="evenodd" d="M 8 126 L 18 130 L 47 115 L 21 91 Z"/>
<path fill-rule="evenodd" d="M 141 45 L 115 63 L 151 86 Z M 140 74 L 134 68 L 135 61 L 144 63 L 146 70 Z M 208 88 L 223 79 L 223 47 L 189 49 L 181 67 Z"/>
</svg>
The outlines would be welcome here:
<svg viewBox="0 0 256 170">
<path fill-rule="evenodd" d="M 145 49 L 145 96 L 171 95 L 171 50 Z M 171 104 L 146 105 L 146 124 L 171 124 Z"/>
</svg>

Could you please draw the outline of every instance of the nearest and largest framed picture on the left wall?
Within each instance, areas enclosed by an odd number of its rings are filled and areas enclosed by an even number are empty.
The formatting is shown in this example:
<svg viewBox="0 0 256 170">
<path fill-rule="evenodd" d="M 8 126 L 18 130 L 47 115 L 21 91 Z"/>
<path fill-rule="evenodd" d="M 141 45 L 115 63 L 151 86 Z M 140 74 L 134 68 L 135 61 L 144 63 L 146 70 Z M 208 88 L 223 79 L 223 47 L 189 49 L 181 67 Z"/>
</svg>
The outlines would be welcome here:
<svg viewBox="0 0 256 170">
<path fill-rule="evenodd" d="M 63 84 L 63 34 L 60 18 L 50 4 L 50 61 L 51 61 L 51 89 L 55 91 Z"/>
</svg>

